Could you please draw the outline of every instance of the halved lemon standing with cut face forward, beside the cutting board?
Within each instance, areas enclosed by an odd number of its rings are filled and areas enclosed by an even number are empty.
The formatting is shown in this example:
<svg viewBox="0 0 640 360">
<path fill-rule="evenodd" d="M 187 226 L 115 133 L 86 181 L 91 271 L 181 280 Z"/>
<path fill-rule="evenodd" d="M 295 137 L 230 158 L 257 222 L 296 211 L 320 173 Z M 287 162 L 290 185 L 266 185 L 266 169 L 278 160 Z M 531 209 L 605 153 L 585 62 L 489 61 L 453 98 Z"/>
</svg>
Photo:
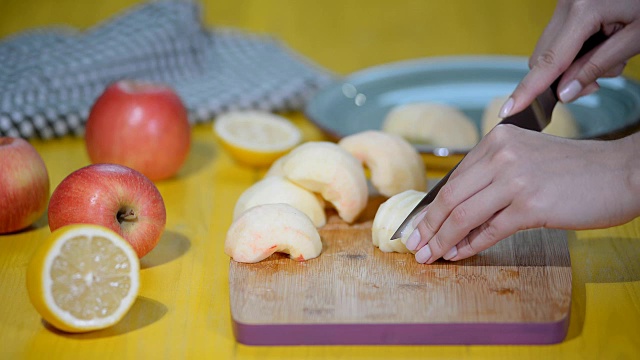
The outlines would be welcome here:
<svg viewBox="0 0 640 360">
<path fill-rule="evenodd" d="M 27 269 L 31 303 L 52 326 L 67 332 L 104 329 L 124 317 L 140 287 L 140 263 L 131 245 L 98 225 L 51 233 Z"/>
</svg>

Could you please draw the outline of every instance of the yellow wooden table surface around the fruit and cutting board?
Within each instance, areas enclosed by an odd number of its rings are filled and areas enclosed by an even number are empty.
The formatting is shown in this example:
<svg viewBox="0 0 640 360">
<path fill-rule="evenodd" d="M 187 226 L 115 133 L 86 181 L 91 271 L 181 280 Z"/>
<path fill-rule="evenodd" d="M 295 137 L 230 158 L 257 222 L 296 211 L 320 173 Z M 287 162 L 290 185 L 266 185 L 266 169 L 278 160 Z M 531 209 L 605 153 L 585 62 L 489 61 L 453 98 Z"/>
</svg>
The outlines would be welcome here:
<svg viewBox="0 0 640 360">
<path fill-rule="evenodd" d="M 0 37 L 33 27 L 93 26 L 132 0 L 0 0 Z M 521 1 L 204 1 L 209 26 L 267 32 L 339 74 L 402 59 L 459 54 L 528 55 L 555 2 Z M 640 59 L 625 72 L 640 79 Z M 301 114 L 288 116 L 305 140 L 322 134 Z M 81 138 L 33 141 L 51 189 L 89 164 Z M 573 294 L 569 333 L 549 346 L 251 347 L 235 342 L 229 314 L 224 236 L 238 196 L 263 171 L 235 164 L 210 125 L 193 129 L 179 175 L 158 182 L 166 231 L 142 259 L 140 296 L 118 325 L 68 335 L 45 327 L 29 303 L 26 265 L 48 236 L 46 218 L 0 236 L 0 358 L 238 359 L 627 359 L 640 354 L 640 219 L 569 239 Z"/>
</svg>

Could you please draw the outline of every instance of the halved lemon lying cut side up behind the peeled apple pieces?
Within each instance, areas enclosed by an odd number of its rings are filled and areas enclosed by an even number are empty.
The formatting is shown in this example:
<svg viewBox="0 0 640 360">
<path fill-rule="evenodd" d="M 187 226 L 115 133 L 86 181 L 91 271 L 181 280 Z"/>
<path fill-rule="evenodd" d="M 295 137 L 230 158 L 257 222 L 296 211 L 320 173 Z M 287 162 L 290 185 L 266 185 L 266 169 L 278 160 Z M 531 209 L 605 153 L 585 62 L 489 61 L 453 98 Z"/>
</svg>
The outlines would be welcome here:
<svg viewBox="0 0 640 360">
<path fill-rule="evenodd" d="M 214 131 L 238 162 L 268 166 L 300 143 L 302 133 L 288 119 L 263 111 L 234 111 L 219 116 Z"/>
</svg>

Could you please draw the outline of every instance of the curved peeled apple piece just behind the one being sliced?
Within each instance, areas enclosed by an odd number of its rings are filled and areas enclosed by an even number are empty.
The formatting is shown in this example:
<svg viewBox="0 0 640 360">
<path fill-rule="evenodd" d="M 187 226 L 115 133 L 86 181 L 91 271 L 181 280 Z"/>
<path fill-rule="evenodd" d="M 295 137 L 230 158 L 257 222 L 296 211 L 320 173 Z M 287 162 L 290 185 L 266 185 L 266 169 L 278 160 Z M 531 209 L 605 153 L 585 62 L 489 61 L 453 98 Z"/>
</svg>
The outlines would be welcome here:
<svg viewBox="0 0 640 360">
<path fill-rule="evenodd" d="M 338 145 L 369 168 L 373 187 L 384 196 L 427 187 L 422 157 L 399 135 L 370 130 L 347 136 Z"/>
</svg>

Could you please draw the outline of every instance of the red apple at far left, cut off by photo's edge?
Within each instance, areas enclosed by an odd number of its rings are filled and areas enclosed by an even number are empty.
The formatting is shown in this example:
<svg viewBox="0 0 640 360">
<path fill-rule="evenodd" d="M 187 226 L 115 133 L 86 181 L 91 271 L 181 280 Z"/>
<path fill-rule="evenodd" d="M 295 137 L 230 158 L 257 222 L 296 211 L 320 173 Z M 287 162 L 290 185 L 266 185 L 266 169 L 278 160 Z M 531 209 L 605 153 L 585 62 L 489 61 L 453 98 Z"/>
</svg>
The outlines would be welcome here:
<svg viewBox="0 0 640 360">
<path fill-rule="evenodd" d="M 47 209 L 49 174 L 24 139 L 0 137 L 0 234 L 33 224 Z"/>
</svg>

